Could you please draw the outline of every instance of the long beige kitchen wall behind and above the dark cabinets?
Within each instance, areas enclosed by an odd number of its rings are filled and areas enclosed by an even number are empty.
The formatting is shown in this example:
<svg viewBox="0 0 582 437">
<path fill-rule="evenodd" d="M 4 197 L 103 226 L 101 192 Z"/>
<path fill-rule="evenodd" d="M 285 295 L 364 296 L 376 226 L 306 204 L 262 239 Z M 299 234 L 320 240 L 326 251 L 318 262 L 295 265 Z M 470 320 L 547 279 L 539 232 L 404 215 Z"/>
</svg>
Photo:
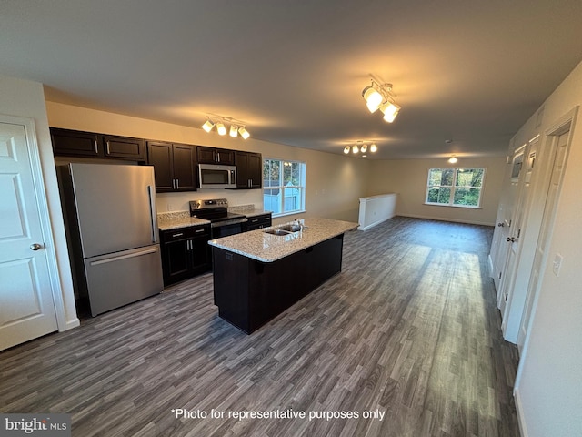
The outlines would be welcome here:
<svg viewBox="0 0 582 437">
<path fill-rule="evenodd" d="M 370 163 L 364 159 L 317 152 L 306 148 L 288 147 L 257 140 L 253 137 L 247 140 L 240 137 L 220 137 L 216 132 L 208 134 L 198 127 L 178 126 L 55 102 L 46 102 L 46 108 L 51 127 L 247 150 L 259 152 L 263 154 L 263 158 L 304 161 L 307 168 L 307 190 L 306 214 L 303 217 L 311 215 L 357 221 L 358 198 L 365 194 L 366 178 L 370 166 Z M 187 210 L 188 201 L 197 198 L 227 198 L 228 203 L 233 206 L 252 203 L 256 205 L 256 208 L 263 207 L 263 193 L 260 189 L 236 191 L 201 189 L 187 193 L 161 193 L 156 198 L 158 212 Z M 275 221 L 288 221 L 289 219 L 286 217 L 286 219 Z"/>
</svg>

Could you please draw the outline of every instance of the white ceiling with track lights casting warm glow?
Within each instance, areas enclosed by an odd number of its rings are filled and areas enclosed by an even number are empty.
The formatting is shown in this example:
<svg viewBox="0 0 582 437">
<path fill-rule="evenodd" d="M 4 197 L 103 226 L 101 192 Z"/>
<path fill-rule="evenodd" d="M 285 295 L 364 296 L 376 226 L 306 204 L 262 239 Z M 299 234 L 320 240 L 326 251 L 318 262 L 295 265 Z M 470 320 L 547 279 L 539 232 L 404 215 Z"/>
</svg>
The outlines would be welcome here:
<svg viewBox="0 0 582 437">
<path fill-rule="evenodd" d="M 374 158 L 502 156 L 580 60 L 580 0 L 0 3 L 0 74 L 48 100 L 189 127 L 233 117 L 333 153 L 375 140 Z M 366 109 L 371 76 L 394 84 L 393 124 Z"/>
</svg>

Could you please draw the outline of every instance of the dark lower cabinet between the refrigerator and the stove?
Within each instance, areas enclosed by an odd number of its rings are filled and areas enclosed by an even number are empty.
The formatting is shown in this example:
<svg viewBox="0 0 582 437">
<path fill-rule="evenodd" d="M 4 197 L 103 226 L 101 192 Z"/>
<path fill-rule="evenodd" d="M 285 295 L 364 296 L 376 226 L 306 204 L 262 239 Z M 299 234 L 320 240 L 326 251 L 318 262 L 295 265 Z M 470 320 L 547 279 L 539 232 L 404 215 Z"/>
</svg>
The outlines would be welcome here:
<svg viewBox="0 0 582 437">
<path fill-rule="evenodd" d="M 193 278 L 212 268 L 208 239 L 210 225 L 160 232 L 165 286 Z"/>
</svg>

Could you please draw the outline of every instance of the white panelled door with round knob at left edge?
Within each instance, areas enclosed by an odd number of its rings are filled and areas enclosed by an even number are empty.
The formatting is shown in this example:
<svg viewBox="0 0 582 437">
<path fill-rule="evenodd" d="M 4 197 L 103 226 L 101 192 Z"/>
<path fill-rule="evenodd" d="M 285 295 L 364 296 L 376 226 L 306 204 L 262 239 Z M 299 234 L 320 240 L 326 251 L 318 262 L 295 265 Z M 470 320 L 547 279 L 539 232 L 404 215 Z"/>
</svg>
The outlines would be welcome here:
<svg viewBox="0 0 582 437">
<path fill-rule="evenodd" d="M 0 350 L 57 330 L 29 147 L 0 122 Z"/>
</svg>

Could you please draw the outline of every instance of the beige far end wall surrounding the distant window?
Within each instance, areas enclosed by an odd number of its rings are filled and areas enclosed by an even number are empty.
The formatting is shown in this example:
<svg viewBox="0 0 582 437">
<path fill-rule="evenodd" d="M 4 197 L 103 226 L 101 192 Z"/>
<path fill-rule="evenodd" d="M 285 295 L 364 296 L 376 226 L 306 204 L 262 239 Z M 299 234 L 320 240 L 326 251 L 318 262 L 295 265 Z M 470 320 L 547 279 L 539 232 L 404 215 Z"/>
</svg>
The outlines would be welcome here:
<svg viewBox="0 0 582 437">
<path fill-rule="evenodd" d="M 428 168 L 486 168 L 481 208 L 453 208 L 425 205 Z M 442 159 L 398 159 L 374 161 L 367 196 L 397 193 L 396 214 L 423 219 L 438 219 L 494 225 L 506 157 L 459 158 L 455 166 Z"/>
</svg>

